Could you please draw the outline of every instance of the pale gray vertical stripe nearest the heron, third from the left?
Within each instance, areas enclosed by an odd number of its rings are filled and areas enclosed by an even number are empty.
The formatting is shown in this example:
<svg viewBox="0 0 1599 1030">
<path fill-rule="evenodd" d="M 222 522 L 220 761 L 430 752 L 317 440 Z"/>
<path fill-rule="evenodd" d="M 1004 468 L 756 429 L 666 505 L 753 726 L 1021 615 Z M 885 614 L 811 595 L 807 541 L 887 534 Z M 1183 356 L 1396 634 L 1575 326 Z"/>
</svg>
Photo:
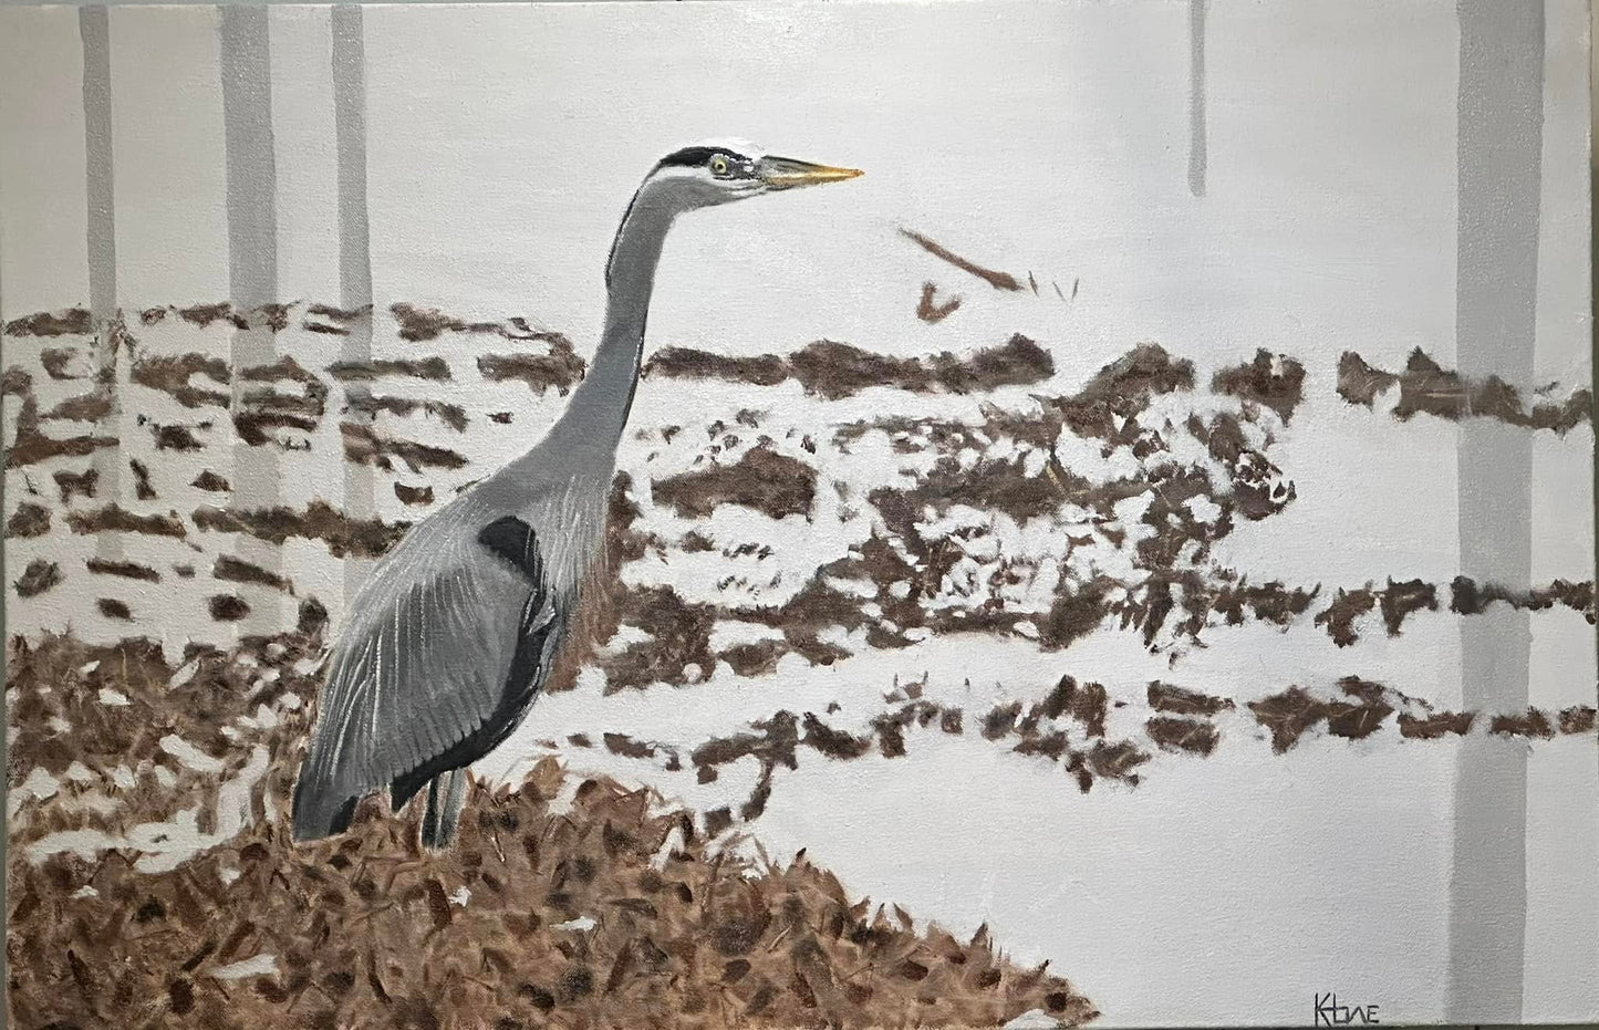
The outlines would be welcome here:
<svg viewBox="0 0 1599 1030">
<path fill-rule="evenodd" d="M 333 8 L 333 118 L 339 162 L 339 304 L 347 310 L 366 309 L 368 315 L 350 325 L 341 358 L 368 361 L 373 357 L 373 261 L 366 221 L 366 38 L 361 8 L 341 3 Z M 366 393 L 365 384 L 350 384 L 345 395 Z M 357 413 L 342 417 L 358 419 Z M 344 512 L 350 518 L 371 518 L 376 510 L 373 470 L 360 462 L 344 462 Z M 344 597 L 355 597 L 371 560 L 344 560 Z"/>
</svg>

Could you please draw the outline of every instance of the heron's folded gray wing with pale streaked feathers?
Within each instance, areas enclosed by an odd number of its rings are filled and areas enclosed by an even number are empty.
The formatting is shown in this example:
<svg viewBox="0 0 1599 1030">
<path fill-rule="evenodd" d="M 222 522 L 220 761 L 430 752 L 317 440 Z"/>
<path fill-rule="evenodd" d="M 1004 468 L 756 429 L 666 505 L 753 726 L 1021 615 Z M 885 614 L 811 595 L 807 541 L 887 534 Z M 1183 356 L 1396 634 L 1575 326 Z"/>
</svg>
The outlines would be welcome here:
<svg viewBox="0 0 1599 1030">
<path fill-rule="evenodd" d="M 384 566 L 341 633 L 301 772 L 328 804 L 425 766 L 505 718 L 507 694 L 536 691 L 548 664 L 555 609 L 524 521 L 408 537 Z"/>
</svg>

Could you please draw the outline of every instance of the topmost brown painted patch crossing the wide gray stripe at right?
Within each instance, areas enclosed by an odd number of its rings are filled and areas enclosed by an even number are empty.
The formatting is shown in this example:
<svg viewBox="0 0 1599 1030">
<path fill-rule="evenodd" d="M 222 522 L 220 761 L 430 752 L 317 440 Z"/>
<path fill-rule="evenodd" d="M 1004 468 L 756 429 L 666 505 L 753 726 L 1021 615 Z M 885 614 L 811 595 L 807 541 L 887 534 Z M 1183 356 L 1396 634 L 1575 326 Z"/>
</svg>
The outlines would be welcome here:
<svg viewBox="0 0 1599 1030">
<path fill-rule="evenodd" d="M 1442 368 L 1420 347 L 1410 352 L 1402 373 L 1372 368 L 1354 352 L 1338 360 L 1338 395 L 1353 405 L 1372 406 L 1377 393 L 1398 384 L 1399 400 L 1394 417 L 1407 421 L 1415 414 L 1441 419 L 1489 417 L 1509 425 L 1567 433 L 1591 421 L 1593 393 L 1572 390 L 1564 401 L 1533 401 L 1529 408 L 1521 392 L 1497 376 L 1465 379 Z"/>
</svg>

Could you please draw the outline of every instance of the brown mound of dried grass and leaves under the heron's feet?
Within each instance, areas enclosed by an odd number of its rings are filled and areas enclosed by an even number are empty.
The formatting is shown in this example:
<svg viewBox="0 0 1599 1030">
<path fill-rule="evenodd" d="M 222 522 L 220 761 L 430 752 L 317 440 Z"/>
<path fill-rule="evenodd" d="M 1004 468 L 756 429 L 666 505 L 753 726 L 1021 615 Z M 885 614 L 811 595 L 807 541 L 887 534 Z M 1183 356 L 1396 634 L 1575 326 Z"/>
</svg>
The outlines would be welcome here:
<svg viewBox="0 0 1599 1030">
<path fill-rule="evenodd" d="M 307 640 L 273 653 L 302 654 Z M 80 657 L 80 645 L 46 641 L 13 686 L 34 696 L 30 677 L 75 670 Z M 126 665 L 147 678 L 142 689 L 117 689 L 139 699 L 141 718 L 176 720 L 160 710 L 155 661 Z M 195 680 L 201 691 L 241 685 L 216 661 Z M 195 688 L 171 691 L 173 704 L 193 699 Z M 518 788 L 478 785 L 445 854 L 422 852 L 416 819 L 389 816 L 382 798 L 361 804 L 349 833 L 294 844 L 305 725 L 299 709 L 270 728 L 254 822 L 171 872 L 138 872 L 134 852 L 34 864 L 13 848 L 13 1025 L 713 1030 L 1097 1014 L 1067 980 L 1009 963 L 985 931 L 959 942 L 918 929 L 899 908 L 851 899 L 803 852 L 779 868 L 707 840 L 648 790 L 571 790 L 552 758 Z M 171 814 L 169 796 L 130 792 L 123 803 L 126 822 Z"/>
</svg>

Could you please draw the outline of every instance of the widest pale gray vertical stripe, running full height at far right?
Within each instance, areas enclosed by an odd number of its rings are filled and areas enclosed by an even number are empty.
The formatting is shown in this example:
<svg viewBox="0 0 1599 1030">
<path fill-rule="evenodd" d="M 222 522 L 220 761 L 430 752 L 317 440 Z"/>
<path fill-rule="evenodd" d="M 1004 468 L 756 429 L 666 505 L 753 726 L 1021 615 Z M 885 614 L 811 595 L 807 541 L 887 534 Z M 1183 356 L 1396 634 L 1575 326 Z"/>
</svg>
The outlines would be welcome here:
<svg viewBox="0 0 1599 1030">
<path fill-rule="evenodd" d="M 1529 389 L 1538 297 L 1543 150 L 1541 0 L 1458 0 L 1460 373 Z M 1525 589 L 1532 576 L 1532 435 L 1497 419 L 1460 422 L 1460 573 Z M 1532 622 L 1495 605 L 1461 619 L 1461 701 L 1527 707 Z M 1527 931 L 1527 752 L 1477 733 L 1461 742 L 1449 921 L 1449 1020 L 1522 1017 Z"/>
</svg>

